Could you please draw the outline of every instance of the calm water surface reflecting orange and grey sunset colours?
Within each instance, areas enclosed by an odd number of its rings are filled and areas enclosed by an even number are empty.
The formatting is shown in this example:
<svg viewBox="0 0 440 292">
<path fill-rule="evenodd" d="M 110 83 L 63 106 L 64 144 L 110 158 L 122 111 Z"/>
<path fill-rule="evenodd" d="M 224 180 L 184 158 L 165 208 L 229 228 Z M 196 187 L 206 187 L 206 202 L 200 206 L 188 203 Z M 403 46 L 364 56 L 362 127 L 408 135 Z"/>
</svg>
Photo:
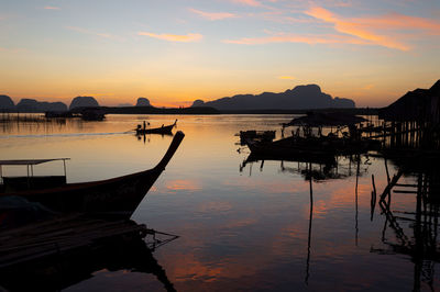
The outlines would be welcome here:
<svg viewBox="0 0 440 292">
<path fill-rule="evenodd" d="M 68 182 L 122 176 L 154 166 L 172 141 L 160 135 L 138 139 L 127 132 L 143 120 L 160 126 L 175 119 L 109 115 L 105 122 L 3 124 L 0 159 L 69 157 Z M 186 137 L 132 217 L 180 236 L 154 251 L 177 291 L 410 291 L 418 287 L 430 291 L 439 287 L 435 261 L 417 260 L 407 249 L 396 248 L 404 240 L 402 233 L 385 222 L 378 205 L 371 216 L 372 175 L 378 194 L 387 184 L 382 158 L 362 157 L 359 164 L 340 158 L 332 178 L 310 182 L 302 171 L 306 164 L 243 165 L 249 150 L 234 135 L 256 128 L 277 130 L 279 136 L 278 124 L 292 115 L 177 119 L 177 130 Z M 392 161 L 387 164 L 393 176 L 397 170 Z M 34 169 L 35 175 L 62 171 L 56 161 Z M 3 175 L 14 173 L 25 173 L 25 168 L 3 168 Z M 399 182 L 415 181 L 408 176 Z M 392 206 L 395 212 L 415 212 L 416 198 L 394 194 Z M 398 224 L 405 240 L 415 242 L 414 223 L 400 220 Z M 437 234 L 437 222 L 430 232 Z M 102 270 L 67 289 L 103 290 L 162 291 L 163 285 L 152 274 Z"/>
</svg>

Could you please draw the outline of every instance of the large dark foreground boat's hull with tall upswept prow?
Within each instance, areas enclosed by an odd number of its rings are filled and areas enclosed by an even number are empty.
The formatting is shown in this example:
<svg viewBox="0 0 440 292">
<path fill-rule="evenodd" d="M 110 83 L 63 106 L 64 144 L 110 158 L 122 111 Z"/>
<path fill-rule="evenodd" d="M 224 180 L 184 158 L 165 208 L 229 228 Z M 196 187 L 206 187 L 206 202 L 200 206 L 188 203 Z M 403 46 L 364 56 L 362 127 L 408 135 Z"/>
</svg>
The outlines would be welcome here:
<svg viewBox="0 0 440 292">
<path fill-rule="evenodd" d="M 108 180 L 68 183 L 50 189 L 0 193 L 0 195 L 19 195 L 55 212 L 130 217 L 164 171 L 184 136 L 184 133 L 177 132 L 162 160 L 148 170 Z"/>
</svg>

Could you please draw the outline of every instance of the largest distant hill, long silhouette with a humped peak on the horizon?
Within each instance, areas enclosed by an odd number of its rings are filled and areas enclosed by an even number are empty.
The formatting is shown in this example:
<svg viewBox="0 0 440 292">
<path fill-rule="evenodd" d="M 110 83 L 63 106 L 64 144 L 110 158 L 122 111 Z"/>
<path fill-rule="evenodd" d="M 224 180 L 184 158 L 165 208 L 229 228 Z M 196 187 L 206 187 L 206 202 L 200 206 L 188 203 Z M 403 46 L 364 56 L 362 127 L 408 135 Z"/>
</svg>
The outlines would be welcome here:
<svg viewBox="0 0 440 292">
<path fill-rule="evenodd" d="M 246 111 L 246 110 L 305 110 L 305 109 L 330 109 L 330 108 L 354 108 L 351 99 L 332 98 L 323 93 L 317 85 L 297 86 L 284 92 L 264 92 L 254 94 L 238 94 L 231 98 L 221 98 L 204 102 L 196 100 L 193 105 L 211 106 L 220 111 Z"/>
</svg>

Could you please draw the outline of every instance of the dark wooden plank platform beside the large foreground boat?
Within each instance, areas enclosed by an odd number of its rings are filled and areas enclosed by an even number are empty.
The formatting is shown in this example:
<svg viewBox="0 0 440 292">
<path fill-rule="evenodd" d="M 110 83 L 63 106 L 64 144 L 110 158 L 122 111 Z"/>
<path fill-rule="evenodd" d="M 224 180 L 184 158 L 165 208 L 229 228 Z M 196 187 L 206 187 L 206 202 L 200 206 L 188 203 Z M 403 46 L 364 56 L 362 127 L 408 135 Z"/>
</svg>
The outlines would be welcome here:
<svg viewBox="0 0 440 292">
<path fill-rule="evenodd" d="M 35 228 L 42 226 L 44 228 Z M 69 226 L 68 228 L 65 228 Z M 124 234 L 146 234 L 146 226 L 131 221 L 102 221 L 84 217 L 55 218 L 8 231 L 0 240 L 0 267 L 66 252 Z"/>
</svg>

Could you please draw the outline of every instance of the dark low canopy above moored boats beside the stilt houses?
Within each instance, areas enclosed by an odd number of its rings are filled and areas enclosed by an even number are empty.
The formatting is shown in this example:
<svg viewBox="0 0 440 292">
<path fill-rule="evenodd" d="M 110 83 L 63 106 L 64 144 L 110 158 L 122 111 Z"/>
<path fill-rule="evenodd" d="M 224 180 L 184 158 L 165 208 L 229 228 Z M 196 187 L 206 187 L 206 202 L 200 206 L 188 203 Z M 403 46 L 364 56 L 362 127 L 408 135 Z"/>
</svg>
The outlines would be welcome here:
<svg viewBox="0 0 440 292">
<path fill-rule="evenodd" d="M 350 113 L 317 113 L 308 112 L 306 116 L 300 116 L 292 120 L 289 123 L 284 123 L 283 126 L 348 126 L 366 122 L 365 119 Z"/>
</svg>

